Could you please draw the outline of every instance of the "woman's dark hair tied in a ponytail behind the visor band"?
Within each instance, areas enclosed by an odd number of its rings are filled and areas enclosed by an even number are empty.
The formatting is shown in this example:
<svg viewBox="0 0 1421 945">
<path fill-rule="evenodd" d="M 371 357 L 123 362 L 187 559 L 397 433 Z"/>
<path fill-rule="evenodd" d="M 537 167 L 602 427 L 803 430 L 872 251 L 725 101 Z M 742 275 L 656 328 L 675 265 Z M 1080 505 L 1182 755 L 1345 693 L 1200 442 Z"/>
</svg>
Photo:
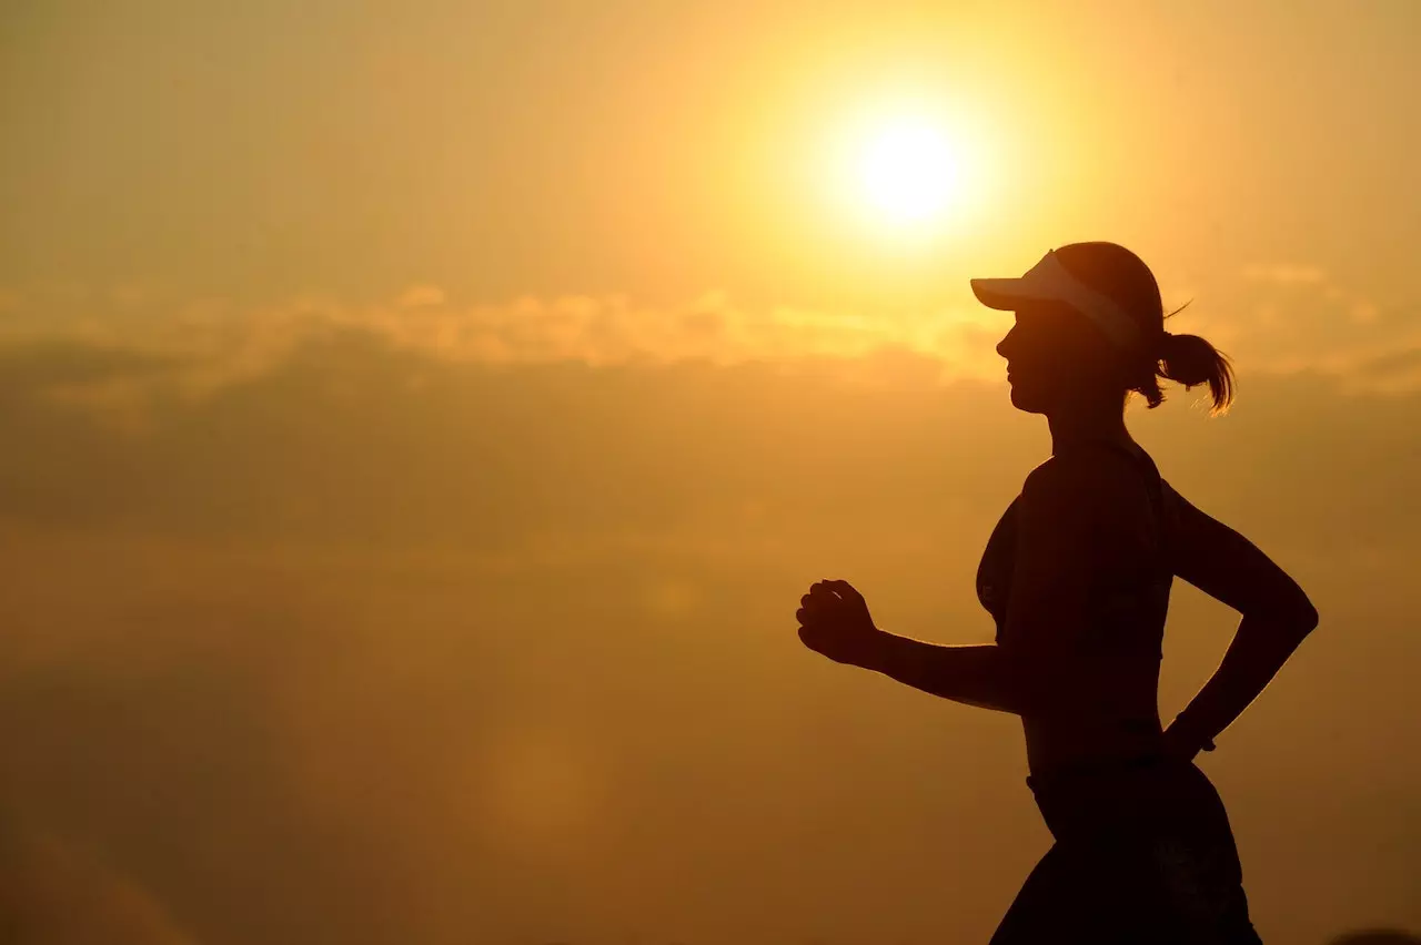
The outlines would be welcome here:
<svg viewBox="0 0 1421 945">
<path fill-rule="evenodd" d="M 1164 321 L 1181 309 L 1165 314 L 1160 284 L 1144 261 L 1114 243 L 1071 243 L 1056 250 L 1061 265 L 1077 280 L 1108 297 L 1140 326 L 1150 348 L 1148 359 L 1131 370 L 1125 390 L 1141 394 L 1152 410 L 1164 403 L 1160 377 L 1192 390 L 1208 385 L 1214 402 L 1211 414 L 1221 414 L 1233 403 L 1233 365 L 1223 352 L 1198 335 L 1172 335 Z"/>
</svg>

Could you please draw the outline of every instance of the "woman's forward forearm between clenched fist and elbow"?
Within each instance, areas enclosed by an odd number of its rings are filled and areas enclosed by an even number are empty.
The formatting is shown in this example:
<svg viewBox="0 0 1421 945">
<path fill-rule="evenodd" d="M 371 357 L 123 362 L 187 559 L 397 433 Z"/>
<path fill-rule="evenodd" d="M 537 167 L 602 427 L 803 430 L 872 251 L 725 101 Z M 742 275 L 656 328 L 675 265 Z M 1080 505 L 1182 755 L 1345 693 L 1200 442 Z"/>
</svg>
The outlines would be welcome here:
<svg viewBox="0 0 1421 945">
<path fill-rule="evenodd" d="M 1006 661 L 993 644 L 939 646 L 880 630 L 861 665 L 945 700 L 1017 711 Z"/>
</svg>

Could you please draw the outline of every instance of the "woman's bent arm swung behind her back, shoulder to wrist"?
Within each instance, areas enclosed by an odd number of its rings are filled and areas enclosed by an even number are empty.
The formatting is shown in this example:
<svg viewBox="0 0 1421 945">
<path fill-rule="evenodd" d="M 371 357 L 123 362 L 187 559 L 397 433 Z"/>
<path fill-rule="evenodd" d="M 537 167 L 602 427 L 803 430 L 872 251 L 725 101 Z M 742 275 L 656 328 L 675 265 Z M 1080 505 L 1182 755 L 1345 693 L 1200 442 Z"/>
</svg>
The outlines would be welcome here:
<svg viewBox="0 0 1421 945">
<path fill-rule="evenodd" d="M 1169 498 L 1174 573 L 1242 614 L 1219 668 L 1168 731 L 1181 745 L 1211 748 L 1317 626 L 1317 610 L 1250 541 L 1177 492 Z"/>
</svg>

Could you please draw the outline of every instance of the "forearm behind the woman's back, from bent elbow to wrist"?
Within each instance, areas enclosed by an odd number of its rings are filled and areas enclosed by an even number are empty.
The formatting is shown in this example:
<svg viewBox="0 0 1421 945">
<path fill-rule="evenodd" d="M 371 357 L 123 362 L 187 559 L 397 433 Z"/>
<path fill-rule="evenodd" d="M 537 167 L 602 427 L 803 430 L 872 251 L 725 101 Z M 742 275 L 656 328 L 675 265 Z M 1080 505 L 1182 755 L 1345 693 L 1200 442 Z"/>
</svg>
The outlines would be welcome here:
<svg viewBox="0 0 1421 945">
<path fill-rule="evenodd" d="M 1300 616 L 1246 614 L 1219 668 L 1171 725 L 1175 734 L 1212 746 L 1214 738 L 1268 687 L 1316 621 L 1310 610 Z"/>
</svg>

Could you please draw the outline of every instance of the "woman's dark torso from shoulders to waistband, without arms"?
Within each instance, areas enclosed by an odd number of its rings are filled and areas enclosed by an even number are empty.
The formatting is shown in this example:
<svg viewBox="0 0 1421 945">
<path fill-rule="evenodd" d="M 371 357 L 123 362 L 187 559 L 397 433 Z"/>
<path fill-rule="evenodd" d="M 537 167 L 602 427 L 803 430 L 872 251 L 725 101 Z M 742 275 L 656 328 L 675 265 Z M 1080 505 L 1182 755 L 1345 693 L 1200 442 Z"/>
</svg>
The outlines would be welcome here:
<svg viewBox="0 0 1421 945">
<path fill-rule="evenodd" d="M 1174 579 L 1167 524 L 1172 490 L 1138 447 L 1104 448 L 1128 455 L 1141 472 L 1141 501 L 1150 507 L 1148 551 L 1133 573 L 1103 575 L 1096 582 L 1090 595 L 1088 637 L 1077 650 L 1079 658 L 1059 667 L 1073 694 L 1070 709 L 1023 717 L 1027 763 L 1033 773 L 1138 758 L 1160 749 L 1160 657 Z M 978 568 L 976 586 L 978 599 L 996 621 L 998 644 L 1029 648 L 1030 639 L 1006 637 L 1016 509 L 1017 501 L 1013 501 L 993 529 Z"/>
</svg>

